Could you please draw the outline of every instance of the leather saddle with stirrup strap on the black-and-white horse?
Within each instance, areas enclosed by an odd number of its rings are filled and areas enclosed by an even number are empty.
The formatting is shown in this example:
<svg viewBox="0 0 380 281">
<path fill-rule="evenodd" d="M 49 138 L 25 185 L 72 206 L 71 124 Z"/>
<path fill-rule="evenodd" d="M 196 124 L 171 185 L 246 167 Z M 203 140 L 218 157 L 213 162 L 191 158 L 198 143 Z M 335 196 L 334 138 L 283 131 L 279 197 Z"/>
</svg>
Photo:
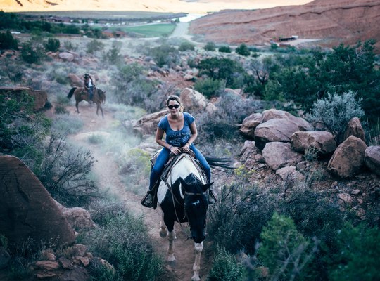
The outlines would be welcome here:
<svg viewBox="0 0 380 281">
<path fill-rule="evenodd" d="M 158 150 L 153 157 L 151 157 L 151 167 L 153 168 L 154 164 L 156 163 L 156 159 L 158 155 L 160 154 L 161 150 Z M 173 153 L 170 153 L 169 160 L 164 166 L 163 172 L 161 173 L 160 176 L 160 181 L 164 181 L 167 184 L 167 179 L 169 178 L 170 171 L 172 167 L 178 162 L 177 160 L 179 157 L 182 157 L 183 154 L 188 154 L 191 156 L 191 159 L 194 161 L 194 164 L 196 164 L 196 168 L 198 171 L 205 177 L 205 172 L 203 171 L 201 163 L 195 159 L 195 154 L 193 151 L 189 150 L 189 152 L 182 152 L 179 155 L 175 155 Z M 153 186 L 151 192 L 153 195 L 153 209 L 157 208 L 157 203 L 158 203 L 158 197 L 157 197 L 157 192 L 158 192 L 158 186 L 160 185 L 160 181 L 157 181 L 156 184 Z"/>
</svg>

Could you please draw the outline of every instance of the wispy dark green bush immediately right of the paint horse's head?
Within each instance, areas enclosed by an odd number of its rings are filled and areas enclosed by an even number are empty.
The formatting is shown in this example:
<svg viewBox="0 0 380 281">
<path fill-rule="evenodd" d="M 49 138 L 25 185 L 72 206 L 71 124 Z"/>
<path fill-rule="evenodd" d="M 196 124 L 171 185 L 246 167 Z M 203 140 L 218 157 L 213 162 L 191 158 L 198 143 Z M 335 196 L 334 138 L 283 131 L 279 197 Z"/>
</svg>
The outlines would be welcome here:
<svg viewBox="0 0 380 281">
<path fill-rule="evenodd" d="M 223 185 L 220 204 L 208 212 L 210 237 L 232 254 L 254 254 L 255 241 L 274 211 L 275 200 L 251 186 L 249 178 L 239 175 L 239 181 Z"/>
</svg>

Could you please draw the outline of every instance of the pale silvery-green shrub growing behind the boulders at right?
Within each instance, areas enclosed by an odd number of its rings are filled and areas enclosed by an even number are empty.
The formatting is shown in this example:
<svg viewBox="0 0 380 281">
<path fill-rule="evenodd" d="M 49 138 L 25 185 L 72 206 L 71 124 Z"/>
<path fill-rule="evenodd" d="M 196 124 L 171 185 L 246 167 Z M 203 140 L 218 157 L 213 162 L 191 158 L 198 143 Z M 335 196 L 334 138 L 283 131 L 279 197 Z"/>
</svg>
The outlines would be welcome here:
<svg viewBox="0 0 380 281">
<path fill-rule="evenodd" d="M 343 134 L 350 119 L 363 117 L 364 111 L 360 103 L 362 98 L 355 99 L 356 93 L 348 91 L 339 96 L 336 93 L 327 94 L 327 98 L 317 100 L 307 115 L 309 121 L 322 121 L 331 133 L 334 134 L 337 143 L 343 141 Z"/>
</svg>

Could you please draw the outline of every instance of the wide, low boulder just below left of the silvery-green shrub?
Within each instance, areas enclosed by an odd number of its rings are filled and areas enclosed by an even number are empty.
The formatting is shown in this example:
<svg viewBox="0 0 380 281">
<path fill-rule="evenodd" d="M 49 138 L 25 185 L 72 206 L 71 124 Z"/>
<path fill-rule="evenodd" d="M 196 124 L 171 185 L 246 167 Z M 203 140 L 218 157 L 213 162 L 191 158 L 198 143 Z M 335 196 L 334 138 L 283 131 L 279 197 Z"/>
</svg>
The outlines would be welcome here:
<svg viewBox="0 0 380 281">
<path fill-rule="evenodd" d="M 298 131 L 291 135 L 291 146 L 298 152 L 316 148 L 320 154 L 326 155 L 334 152 L 336 142 L 332 133 L 327 131 Z"/>
</svg>

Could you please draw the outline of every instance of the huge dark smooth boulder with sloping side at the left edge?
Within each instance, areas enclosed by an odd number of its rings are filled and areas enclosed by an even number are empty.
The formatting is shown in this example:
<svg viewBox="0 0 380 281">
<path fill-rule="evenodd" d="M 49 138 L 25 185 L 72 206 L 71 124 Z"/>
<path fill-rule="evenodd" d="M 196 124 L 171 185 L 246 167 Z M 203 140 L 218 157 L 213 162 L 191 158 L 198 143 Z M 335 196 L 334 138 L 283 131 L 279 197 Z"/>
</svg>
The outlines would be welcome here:
<svg viewBox="0 0 380 281">
<path fill-rule="evenodd" d="M 9 242 L 31 237 L 57 245 L 75 242 L 74 230 L 42 183 L 17 157 L 0 156 L 0 233 Z"/>
</svg>

